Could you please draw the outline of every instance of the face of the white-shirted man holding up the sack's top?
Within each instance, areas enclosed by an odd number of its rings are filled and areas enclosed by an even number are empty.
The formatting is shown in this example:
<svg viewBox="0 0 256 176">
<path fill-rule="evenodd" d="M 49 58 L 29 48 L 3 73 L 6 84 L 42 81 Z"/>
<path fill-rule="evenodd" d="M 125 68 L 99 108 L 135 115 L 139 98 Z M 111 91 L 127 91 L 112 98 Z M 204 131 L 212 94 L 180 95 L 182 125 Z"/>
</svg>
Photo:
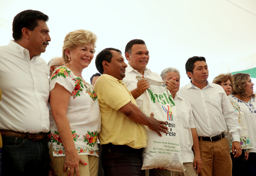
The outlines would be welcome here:
<svg viewBox="0 0 256 176">
<path fill-rule="evenodd" d="M 125 53 L 129 64 L 139 73 L 144 74 L 144 69 L 149 62 L 149 51 L 144 44 L 135 44 L 132 46 L 131 54 Z M 142 74 L 142 75 L 143 75 Z"/>
</svg>

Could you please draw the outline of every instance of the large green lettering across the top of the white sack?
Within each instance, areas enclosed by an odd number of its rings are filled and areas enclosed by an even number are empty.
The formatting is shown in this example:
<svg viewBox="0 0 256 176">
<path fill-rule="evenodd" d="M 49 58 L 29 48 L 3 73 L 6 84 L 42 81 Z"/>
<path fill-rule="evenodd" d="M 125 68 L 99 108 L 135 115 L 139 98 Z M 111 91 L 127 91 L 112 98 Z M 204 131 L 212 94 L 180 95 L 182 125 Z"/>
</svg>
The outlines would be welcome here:
<svg viewBox="0 0 256 176">
<path fill-rule="evenodd" d="M 157 94 L 154 94 L 150 89 L 148 89 L 148 93 L 153 103 L 155 103 L 155 99 L 156 99 L 159 103 L 163 105 L 170 104 L 171 106 L 175 106 L 175 103 L 172 100 L 172 95 L 170 95 L 169 97 L 167 97 L 168 95 L 166 95 L 166 93 L 157 95 Z"/>
</svg>

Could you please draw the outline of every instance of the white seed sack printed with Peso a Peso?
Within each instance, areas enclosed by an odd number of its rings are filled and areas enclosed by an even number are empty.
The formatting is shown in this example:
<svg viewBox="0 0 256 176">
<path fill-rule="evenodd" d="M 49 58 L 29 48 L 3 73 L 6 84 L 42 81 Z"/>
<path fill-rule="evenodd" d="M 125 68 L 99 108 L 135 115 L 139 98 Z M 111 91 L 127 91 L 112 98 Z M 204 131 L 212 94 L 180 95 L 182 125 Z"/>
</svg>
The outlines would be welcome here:
<svg viewBox="0 0 256 176">
<path fill-rule="evenodd" d="M 139 81 L 143 78 L 136 76 L 136 79 Z M 142 169 L 164 167 L 173 171 L 184 171 L 175 103 L 170 91 L 166 88 L 166 81 L 144 79 L 150 86 L 143 94 L 141 110 L 149 117 L 153 112 L 154 118 L 165 121 L 169 129 L 166 134 L 161 132 L 162 137 L 160 137 L 155 131 L 146 127 L 148 140 L 143 150 Z"/>
</svg>

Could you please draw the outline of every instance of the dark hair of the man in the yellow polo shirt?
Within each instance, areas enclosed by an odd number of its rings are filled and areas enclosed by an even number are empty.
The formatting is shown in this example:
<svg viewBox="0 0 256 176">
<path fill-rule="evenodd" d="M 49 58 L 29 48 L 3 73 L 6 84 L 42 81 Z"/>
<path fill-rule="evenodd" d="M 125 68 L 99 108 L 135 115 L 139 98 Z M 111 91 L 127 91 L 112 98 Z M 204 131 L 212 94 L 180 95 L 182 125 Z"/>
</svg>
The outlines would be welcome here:
<svg viewBox="0 0 256 176">
<path fill-rule="evenodd" d="M 103 61 L 107 61 L 109 63 L 111 62 L 112 52 L 110 50 L 115 50 L 115 51 L 119 52 L 120 54 L 122 54 L 122 52 L 116 48 L 105 48 L 101 52 L 99 52 L 95 59 L 95 66 L 101 74 L 104 71 L 102 62 Z"/>
</svg>

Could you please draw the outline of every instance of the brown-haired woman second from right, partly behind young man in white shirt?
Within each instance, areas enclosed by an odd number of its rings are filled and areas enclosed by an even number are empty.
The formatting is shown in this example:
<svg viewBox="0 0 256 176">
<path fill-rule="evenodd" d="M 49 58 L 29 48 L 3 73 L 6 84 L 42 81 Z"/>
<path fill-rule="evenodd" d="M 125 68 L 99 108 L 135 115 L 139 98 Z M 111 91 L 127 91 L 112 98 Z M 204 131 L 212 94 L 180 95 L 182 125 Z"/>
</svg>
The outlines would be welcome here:
<svg viewBox="0 0 256 176">
<path fill-rule="evenodd" d="M 230 153 L 232 159 L 232 175 L 244 175 L 245 171 L 242 168 L 244 168 L 245 160 L 248 159 L 248 150 L 253 148 L 248 135 L 248 129 L 246 124 L 246 112 L 241 108 L 241 106 L 237 102 L 237 99 L 234 99 L 234 95 L 231 94 L 231 92 L 235 90 L 235 88 L 233 87 L 234 82 L 232 74 L 220 74 L 219 76 L 214 78 L 213 83 L 221 85 L 221 87 L 226 92 L 228 98 L 230 99 L 234 110 L 237 113 L 238 122 L 242 129 L 242 132 L 240 134 L 242 154 L 238 158 L 234 158 L 234 155 Z M 237 83 L 235 85 L 237 85 Z M 228 135 L 228 133 L 226 133 L 226 138 L 229 141 L 231 147 L 233 140 L 231 136 Z M 230 152 L 232 152 L 232 149 L 230 149 Z"/>
</svg>

